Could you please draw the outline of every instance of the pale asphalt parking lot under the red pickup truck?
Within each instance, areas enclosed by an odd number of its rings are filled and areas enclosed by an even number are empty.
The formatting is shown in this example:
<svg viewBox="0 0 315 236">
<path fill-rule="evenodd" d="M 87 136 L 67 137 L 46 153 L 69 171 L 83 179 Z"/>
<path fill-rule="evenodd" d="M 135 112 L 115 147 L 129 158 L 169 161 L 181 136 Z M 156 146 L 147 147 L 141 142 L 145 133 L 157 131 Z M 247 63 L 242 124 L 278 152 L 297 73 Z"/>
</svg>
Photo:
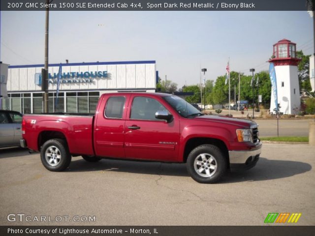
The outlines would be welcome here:
<svg viewBox="0 0 315 236">
<path fill-rule="evenodd" d="M 38 153 L 2 149 L 0 225 L 263 225 L 269 212 L 302 213 L 295 225 L 314 225 L 314 153 L 307 144 L 264 144 L 253 169 L 200 184 L 185 164 L 73 157 L 53 173 Z M 10 213 L 95 222 L 9 222 Z"/>
</svg>

